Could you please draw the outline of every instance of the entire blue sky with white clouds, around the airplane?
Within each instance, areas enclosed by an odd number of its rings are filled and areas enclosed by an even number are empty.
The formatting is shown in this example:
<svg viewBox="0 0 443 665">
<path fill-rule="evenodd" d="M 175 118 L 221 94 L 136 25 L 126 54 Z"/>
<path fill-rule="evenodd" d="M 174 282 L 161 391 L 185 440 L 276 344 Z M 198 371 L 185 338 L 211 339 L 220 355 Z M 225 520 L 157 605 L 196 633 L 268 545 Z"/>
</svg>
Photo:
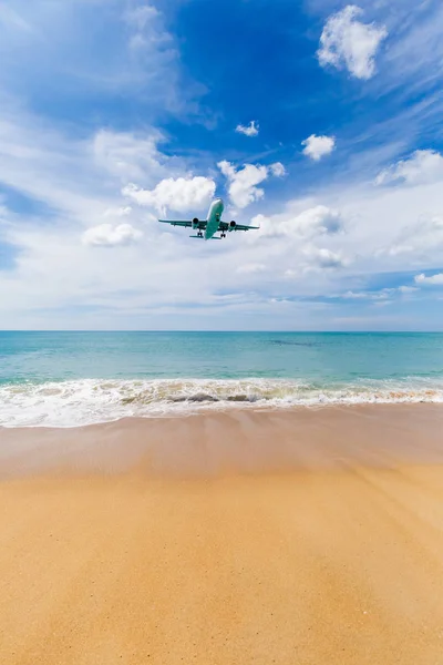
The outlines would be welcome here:
<svg viewBox="0 0 443 665">
<path fill-rule="evenodd" d="M 443 6 L 0 1 L 0 328 L 443 329 Z M 158 216 L 260 231 L 189 239 Z"/>
</svg>

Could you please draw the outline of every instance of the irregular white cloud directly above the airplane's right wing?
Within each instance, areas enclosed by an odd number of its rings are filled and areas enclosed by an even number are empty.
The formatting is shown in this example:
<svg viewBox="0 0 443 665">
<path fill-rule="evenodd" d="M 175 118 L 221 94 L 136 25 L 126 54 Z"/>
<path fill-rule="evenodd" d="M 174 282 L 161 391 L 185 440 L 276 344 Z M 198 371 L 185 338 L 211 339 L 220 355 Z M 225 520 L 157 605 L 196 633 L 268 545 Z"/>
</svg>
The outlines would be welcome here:
<svg viewBox="0 0 443 665">
<path fill-rule="evenodd" d="M 245 164 L 237 170 L 230 162 L 224 160 L 218 162 L 217 166 L 229 182 L 230 201 L 240 209 L 265 196 L 265 191 L 257 185 L 266 181 L 269 175 L 281 176 L 285 174 L 285 166 L 280 162 L 270 166 Z"/>
</svg>

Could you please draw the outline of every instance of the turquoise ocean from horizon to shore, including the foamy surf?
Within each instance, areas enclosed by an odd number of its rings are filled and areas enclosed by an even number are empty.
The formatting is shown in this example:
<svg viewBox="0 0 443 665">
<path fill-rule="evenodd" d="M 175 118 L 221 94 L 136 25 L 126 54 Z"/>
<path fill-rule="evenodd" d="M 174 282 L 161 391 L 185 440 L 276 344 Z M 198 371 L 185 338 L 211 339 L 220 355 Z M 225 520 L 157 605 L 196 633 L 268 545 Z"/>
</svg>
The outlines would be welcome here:
<svg viewBox="0 0 443 665">
<path fill-rule="evenodd" d="M 0 332 L 0 426 L 443 402 L 443 334 Z"/>
</svg>

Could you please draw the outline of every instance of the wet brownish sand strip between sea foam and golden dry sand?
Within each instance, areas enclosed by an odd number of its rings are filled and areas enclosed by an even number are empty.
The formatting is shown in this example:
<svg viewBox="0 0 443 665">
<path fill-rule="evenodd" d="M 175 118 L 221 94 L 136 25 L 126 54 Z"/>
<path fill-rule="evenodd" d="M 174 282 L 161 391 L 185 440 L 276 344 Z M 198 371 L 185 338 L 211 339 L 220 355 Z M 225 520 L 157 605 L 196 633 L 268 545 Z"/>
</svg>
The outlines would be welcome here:
<svg viewBox="0 0 443 665">
<path fill-rule="evenodd" d="M 365 405 L 0 428 L 0 480 L 63 473 L 215 478 L 443 463 L 442 405 Z"/>
</svg>

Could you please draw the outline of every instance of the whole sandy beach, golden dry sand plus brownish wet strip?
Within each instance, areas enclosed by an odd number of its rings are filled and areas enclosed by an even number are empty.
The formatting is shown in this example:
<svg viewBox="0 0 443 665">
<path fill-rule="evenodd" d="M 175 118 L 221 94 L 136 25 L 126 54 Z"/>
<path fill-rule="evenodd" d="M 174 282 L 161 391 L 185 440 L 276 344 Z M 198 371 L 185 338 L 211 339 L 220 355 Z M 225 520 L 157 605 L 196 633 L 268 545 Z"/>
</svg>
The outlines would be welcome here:
<svg viewBox="0 0 443 665">
<path fill-rule="evenodd" d="M 0 663 L 443 663 L 443 408 L 0 430 Z"/>
</svg>

